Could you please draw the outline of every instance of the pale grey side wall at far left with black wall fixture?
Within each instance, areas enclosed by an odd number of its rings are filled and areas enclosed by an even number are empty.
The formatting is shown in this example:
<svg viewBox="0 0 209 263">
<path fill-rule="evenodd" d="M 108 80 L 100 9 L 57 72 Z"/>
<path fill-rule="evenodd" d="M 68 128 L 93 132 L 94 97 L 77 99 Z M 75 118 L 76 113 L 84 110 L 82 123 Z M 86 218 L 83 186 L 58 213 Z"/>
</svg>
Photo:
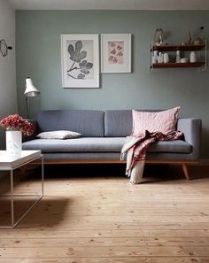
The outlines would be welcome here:
<svg viewBox="0 0 209 263">
<path fill-rule="evenodd" d="M 8 55 L 0 53 L 0 120 L 17 112 L 15 73 L 15 11 L 7 0 L 0 0 L 0 39 L 13 47 Z M 5 130 L 0 128 L 0 150 L 5 149 Z"/>
</svg>

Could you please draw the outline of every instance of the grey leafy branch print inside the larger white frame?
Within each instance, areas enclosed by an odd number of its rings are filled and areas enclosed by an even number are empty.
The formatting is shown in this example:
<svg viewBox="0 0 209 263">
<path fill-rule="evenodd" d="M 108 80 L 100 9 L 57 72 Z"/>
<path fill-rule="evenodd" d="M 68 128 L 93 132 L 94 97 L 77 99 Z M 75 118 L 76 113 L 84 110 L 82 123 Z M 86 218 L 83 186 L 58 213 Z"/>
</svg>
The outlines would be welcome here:
<svg viewBox="0 0 209 263">
<path fill-rule="evenodd" d="M 67 75 L 70 78 L 78 80 L 92 78 L 90 72 L 93 69 L 93 63 L 87 60 L 89 54 L 87 50 L 83 50 L 84 43 L 87 46 L 90 45 L 90 41 L 88 40 L 83 42 L 79 40 L 75 43 L 68 44 L 67 51 L 69 53 L 69 60 L 71 62 L 69 63 Z"/>
</svg>

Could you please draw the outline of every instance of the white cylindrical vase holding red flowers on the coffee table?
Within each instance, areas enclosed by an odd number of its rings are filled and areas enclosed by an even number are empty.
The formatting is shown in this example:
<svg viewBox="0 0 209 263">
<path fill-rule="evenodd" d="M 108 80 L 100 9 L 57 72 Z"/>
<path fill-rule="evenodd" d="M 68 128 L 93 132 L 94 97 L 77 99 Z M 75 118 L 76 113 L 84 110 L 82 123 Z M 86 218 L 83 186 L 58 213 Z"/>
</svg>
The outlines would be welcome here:
<svg viewBox="0 0 209 263">
<path fill-rule="evenodd" d="M 22 133 L 20 131 L 6 131 L 6 151 L 12 157 L 21 156 Z"/>
</svg>

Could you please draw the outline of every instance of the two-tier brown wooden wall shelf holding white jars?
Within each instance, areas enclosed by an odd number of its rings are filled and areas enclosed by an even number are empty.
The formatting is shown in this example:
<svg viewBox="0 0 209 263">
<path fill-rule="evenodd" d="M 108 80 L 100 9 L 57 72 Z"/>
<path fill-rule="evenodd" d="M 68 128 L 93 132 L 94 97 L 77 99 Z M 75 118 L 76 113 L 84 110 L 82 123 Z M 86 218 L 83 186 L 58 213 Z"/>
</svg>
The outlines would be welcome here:
<svg viewBox="0 0 209 263">
<path fill-rule="evenodd" d="M 150 73 L 157 68 L 196 67 L 206 69 L 206 40 L 201 44 L 151 45 Z"/>
</svg>

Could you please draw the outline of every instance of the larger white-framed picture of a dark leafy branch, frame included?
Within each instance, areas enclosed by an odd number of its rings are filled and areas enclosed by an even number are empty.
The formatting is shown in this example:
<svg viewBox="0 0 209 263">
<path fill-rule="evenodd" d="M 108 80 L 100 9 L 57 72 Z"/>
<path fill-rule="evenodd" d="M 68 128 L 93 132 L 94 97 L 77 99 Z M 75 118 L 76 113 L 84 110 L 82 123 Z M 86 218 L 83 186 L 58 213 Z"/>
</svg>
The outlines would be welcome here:
<svg viewBox="0 0 209 263">
<path fill-rule="evenodd" d="M 98 35 L 61 35 L 63 88 L 99 88 Z"/>
</svg>

